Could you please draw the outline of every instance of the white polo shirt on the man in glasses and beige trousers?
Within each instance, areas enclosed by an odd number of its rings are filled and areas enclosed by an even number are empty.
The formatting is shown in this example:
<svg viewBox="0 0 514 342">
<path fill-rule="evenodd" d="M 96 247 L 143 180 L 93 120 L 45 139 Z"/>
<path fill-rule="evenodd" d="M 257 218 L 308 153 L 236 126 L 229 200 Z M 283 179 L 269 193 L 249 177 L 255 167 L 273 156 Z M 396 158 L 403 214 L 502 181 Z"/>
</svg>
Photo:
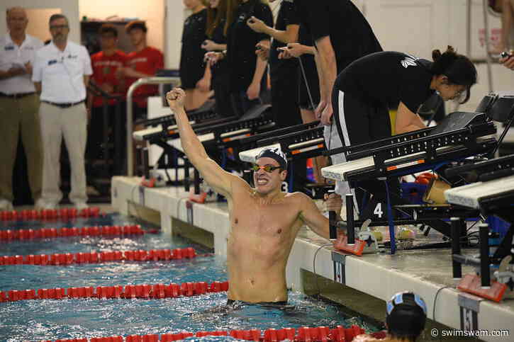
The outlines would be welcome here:
<svg viewBox="0 0 514 342">
<path fill-rule="evenodd" d="M 83 101 L 86 98 L 84 75 L 91 74 L 91 59 L 86 47 L 69 40 L 64 51 L 50 42 L 35 54 L 32 80 L 41 82 L 41 101 Z"/>
</svg>

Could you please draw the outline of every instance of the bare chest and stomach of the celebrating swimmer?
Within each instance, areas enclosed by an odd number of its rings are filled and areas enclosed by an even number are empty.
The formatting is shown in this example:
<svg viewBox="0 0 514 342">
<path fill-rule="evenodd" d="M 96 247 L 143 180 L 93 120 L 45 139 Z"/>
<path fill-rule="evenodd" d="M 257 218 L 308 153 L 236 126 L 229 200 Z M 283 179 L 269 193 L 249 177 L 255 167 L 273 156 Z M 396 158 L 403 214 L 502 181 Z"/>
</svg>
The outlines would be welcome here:
<svg viewBox="0 0 514 342">
<path fill-rule="evenodd" d="M 301 205 L 294 194 L 262 203 L 243 193 L 229 202 L 228 297 L 247 302 L 287 300 L 286 263 L 301 227 Z"/>
</svg>

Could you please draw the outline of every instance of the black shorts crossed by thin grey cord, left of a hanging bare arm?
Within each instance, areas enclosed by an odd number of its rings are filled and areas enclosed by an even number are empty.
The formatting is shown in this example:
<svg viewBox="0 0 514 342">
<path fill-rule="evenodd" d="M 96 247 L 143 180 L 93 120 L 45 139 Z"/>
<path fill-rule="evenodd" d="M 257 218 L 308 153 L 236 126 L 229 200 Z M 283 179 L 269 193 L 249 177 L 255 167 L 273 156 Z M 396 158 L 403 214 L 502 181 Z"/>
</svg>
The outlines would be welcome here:
<svg viewBox="0 0 514 342">
<path fill-rule="evenodd" d="M 301 57 L 301 62 L 303 64 L 303 70 L 305 70 L 308 88 L 311 91 L 314 108 L 311 105 L 311 98 L 309 97 L 301 66 L 298 67 L 298 106 L 301 109 L 315 110 L 315 107 L 320 103 L 320 81 L 318 79 L 316 63 L 314 61 L 314 57 L 310 55 L 303 55 Z"/>
</svg>

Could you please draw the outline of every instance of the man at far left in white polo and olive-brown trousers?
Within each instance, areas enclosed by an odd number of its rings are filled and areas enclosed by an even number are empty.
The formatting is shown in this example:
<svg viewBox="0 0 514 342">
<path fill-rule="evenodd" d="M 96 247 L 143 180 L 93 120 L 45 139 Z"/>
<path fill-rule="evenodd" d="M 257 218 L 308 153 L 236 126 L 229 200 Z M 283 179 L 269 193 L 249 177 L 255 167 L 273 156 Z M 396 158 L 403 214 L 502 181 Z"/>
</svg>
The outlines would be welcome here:
<svg viewBox="0 0 514 342">
<path fill-rule="evenodd" d="M 41 195 L 43 150 L 39 126 L 39 98 L 30 81 L 35 51 L 43 47 L 38 38 L 27 35 L 26 11 L 7 10 L 9 33 L 0 38 L 0 210 L 13 209 L 13 166 L 18 134 L 27 156 L 28 182 L 38 205 Z"/>
</svg>

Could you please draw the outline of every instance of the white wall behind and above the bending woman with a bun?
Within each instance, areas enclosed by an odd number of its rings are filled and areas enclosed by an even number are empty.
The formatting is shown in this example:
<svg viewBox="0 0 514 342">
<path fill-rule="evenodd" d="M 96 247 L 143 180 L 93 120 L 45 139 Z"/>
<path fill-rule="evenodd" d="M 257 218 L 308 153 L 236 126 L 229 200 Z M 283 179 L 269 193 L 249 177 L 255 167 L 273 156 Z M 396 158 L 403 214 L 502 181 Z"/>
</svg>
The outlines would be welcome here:
<svg viewBox="0 0 514 342">
<path fill-rule="evenodd" d="M 357 0 L 355 0 L 357 2 Z M 434 49 L 452 45 L 466 55 L 468 0 L 358 0 L 384 50 L 409 52 L 431 58 Z M 488 74 L 484 59 L 484 11 L 482 0 L 471 0 L 471 59 L 477 61 L 478 84 L 471 89 L 469 103 L 461 110 L 474 110 L 488 92 Z M 489 30 L 498 38 L 500 18 L 488 15 Z M 481 33 L 482 32 L 482 33 Z M 480 34 L 481 33 L 481 34 Z M 482 62 L 480 62 L 482 61 Z M 514 89 L 514 74 L 493 65 L 493 91 Z"/>
</svg>

